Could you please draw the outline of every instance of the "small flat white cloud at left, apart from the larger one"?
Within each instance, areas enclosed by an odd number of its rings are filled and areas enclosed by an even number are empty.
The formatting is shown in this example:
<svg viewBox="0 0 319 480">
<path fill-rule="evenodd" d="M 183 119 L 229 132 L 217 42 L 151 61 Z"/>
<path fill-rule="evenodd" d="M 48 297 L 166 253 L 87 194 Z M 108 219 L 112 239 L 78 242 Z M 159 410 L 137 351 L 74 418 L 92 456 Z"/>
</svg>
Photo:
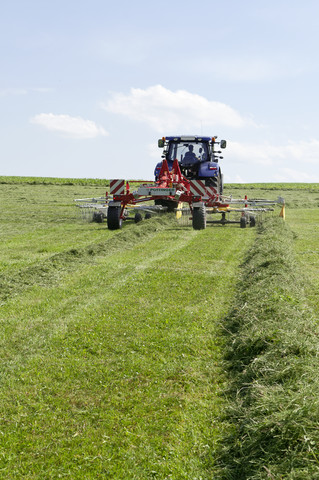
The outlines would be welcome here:
<svg viewBox="0 0 319 480">
<path fill-rule="evenodd" d="M 96 125 L 91 120 L 71 117 L 70 115 L 40 113 L 32 117 L 30 122 L 70 138 L 96 138 L 109 135 L 104 128 Z"/>
</svg>

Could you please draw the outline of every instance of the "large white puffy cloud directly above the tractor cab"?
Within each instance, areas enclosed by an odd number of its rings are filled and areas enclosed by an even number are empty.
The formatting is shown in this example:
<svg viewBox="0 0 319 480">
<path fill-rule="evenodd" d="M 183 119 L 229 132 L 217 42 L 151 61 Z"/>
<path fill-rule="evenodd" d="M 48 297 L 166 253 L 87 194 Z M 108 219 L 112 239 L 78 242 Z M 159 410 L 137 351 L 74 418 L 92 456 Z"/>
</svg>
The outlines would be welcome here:
<svg viewBox="0 0 319 480">
<path fill-rule="evenodd" d="M 132 88 L 128 95 L 113 93 L 102 106 L 111 113 L 146 123 L 159 133 L 200 132 L 202 128 L 229 126 L 240 128 L 253 122 L 230 106 L 186 90 L 173 92 L 161 85 L 145 90 Z"/>
</svg>

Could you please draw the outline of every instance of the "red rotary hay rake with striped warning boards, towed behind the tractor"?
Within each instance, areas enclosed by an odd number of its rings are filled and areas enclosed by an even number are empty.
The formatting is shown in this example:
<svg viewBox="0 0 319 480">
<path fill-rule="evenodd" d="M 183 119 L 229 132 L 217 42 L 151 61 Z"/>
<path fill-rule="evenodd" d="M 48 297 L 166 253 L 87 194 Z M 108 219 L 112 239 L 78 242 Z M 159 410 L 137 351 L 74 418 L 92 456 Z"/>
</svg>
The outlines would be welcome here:
<svg viewBox="0 0 319 480">
<path fill-rule="evenodd" d="M 129 182 L 123 179 L 111 180 L 110 196 L 107 197 L 106 217 L 110 230 L 119 229 L 123 221 L 132 219 L 132 210 L 135 213 L 135 222 L 142 219 L 141 211 L 145 212 L 146 218 L 152 213 L 175 211 L 180 221 L 191 219 L 195 230 L 205 229 L 209 223 L 237 223 L 241 228 L 247 225 L 254 227 L 262 214 L 273 212 L 276 205 L 281 205 L 281 216 L 284 215 L 283 198 L 273 201 L 248 199 L 247 196 L 235 199 L 232 196 L 220 195 L 214 187 L 206 185 L 205 180 L 185 178 L 181 174 L 177 159 L 174 160 L 171 170 L 164 159 L 158 180 L 155 183 L 141 182 L 136 190 L 131 190 Z M 235 213 L 239 218 L 230 218 Z M 219 219 L 211 219 L 217 214 L 220 215 Z"/>
</svg>

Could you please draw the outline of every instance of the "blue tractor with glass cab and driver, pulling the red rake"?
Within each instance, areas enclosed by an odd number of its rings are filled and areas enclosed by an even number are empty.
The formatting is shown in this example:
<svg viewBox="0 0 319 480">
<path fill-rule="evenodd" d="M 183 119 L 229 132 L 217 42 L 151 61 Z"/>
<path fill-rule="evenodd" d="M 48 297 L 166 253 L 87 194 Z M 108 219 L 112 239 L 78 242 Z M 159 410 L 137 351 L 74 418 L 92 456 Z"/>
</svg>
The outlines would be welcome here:
<svg viewBox="0 0 319 480">
<path fill-rule="evenodd" d="M 187 135 L 176 137 L 163 137 L 158 140 L 159 148 L 163 148 L 162 158 L 165 158 L 171 170 L 177 158 L 184 177 L 189 180 L 204 180 L 207 187 L 213 187 L 216 193 L 223 193 L 223 175 L 218 160 L 221 150 L 226 148 L 226 140 L 217 141 L 217 137 L 203 137 Z M 159 162 L 154 171 L 155 180 L 158 179 L 162 162 Z"/>
</svg>

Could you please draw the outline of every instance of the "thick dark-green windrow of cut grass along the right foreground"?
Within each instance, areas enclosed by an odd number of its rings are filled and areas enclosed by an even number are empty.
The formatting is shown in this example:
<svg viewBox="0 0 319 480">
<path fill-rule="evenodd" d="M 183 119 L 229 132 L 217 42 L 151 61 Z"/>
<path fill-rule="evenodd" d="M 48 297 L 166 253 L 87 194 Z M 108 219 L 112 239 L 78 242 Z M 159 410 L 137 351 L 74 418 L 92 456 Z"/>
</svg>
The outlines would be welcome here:
<svg viewBox="0 0 319 480">
<path fill-rule="evenodd" d="M 319 478 L 319 328 L 305 281 L 289 227 L 265 222 L 222 325 L 229 428 L 218 478 Z"/>
</svg>

